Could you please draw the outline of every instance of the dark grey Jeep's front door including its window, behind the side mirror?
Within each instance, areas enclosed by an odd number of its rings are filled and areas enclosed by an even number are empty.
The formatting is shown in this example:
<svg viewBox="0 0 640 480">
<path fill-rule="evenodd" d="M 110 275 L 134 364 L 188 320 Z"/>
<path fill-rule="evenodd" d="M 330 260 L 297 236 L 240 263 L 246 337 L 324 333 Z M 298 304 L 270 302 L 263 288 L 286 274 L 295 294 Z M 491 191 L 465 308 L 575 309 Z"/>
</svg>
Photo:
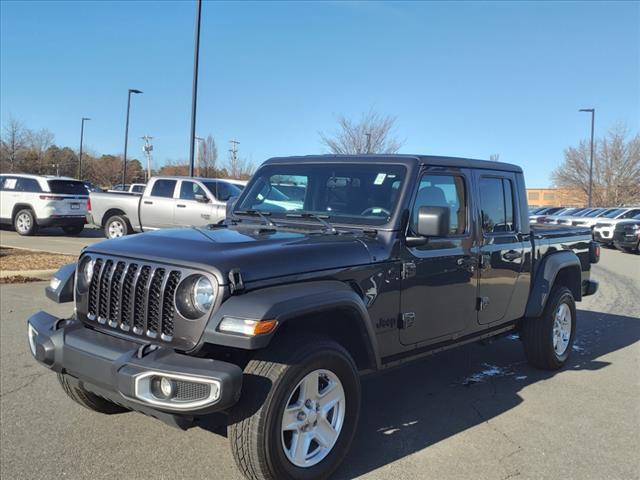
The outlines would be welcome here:
<svg viewBox="0 0 640 480">
<path fill-rule="evenodd" d="M 400 341 L 436 343 L 475 324 L 477 248 L 471 225 L 471 172 L 427 168 L 420 179 L 409 220 L 415 232 L 421 206 L 450 209 L 445 237 L 403 247 Z"/>
</svg>

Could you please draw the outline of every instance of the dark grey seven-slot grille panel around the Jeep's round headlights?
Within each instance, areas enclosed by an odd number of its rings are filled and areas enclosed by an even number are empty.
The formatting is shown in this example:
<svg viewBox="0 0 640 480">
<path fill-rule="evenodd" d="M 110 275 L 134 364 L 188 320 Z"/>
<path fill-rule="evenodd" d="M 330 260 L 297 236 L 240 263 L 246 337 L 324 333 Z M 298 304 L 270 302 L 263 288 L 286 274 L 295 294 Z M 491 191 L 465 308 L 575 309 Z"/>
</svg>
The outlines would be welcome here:
<svg viewBox="0 0 640 480">
<path fill-rule="evenodd" d="M 171 345 L 185 351 L 198 344 L 211 312 L 196 320 L 187 319 L 176 308 L 175 296 L 181 281 L 192 275 L 204 275 L 218 285 L 213 275 L 140 259 L 91 253 L 84 256 L 95 263 L 87 291 L 76 290 L 80 320 L 141 343 Z M 212 310 L 219 305 L 223 292 L 219 286 Z"/>
</svg>

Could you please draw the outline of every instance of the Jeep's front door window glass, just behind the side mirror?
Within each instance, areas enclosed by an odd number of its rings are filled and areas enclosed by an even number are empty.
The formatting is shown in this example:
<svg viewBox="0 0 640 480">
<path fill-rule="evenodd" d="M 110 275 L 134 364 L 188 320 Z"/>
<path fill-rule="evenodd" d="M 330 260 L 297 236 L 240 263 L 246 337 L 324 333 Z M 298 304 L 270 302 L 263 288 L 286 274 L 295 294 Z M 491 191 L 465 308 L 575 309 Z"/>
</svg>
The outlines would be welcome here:
<svg viewBox="0 0 640 480">
<path fill-rule="evenodd" d="M 420 207 L 448 207 L 449 235 L 462 235 L 467 230 L 467 195 L 460 175 L 424 175 L 411 213 L 411 229 L 415 232 Z"/>
</svg>

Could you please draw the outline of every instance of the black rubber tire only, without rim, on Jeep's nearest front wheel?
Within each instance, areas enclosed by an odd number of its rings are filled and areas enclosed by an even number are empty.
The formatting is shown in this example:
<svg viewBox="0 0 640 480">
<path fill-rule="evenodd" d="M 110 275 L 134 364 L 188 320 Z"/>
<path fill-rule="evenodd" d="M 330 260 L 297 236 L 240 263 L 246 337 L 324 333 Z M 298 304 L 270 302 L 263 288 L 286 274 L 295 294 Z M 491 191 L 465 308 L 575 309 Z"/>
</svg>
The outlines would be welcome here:
<svg viewBox="0 0 640 480">
<path fill-rule="evenodd" d="M 242 397 L 229 418 L 233 458 L 251 480 L 324 479 L 342 463 L 360 414 L 360 378 L 347 351 L 324 338 L 289 337 L 259 352 L 244 370 Z M 318 369 L 335 374 L 346 408 L 340 433 L 327 456 L 310 467 L 295 466 L 282 440 L 282 415 L 298 383 Z"/>
</svg>

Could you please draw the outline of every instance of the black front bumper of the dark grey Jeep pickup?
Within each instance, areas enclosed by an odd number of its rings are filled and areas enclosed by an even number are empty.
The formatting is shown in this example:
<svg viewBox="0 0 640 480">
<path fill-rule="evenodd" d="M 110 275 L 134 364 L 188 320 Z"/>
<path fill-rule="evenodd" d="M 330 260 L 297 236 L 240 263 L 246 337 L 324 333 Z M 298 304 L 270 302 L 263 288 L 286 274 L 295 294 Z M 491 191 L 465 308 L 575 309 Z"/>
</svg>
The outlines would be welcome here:
<svg viewBox="0 0 640 480">
<path fill-rule="evenodd" d="M 28 331 L 38 362 L 132 410 L 193 418 L 227 410 L 240 397 L 242 370 L 231 363 L 117 338 L 42 311 L 29 318 Z M 175 403 L 168 404 L 150 390 L 150 382 L 161 377 L 173 382 L 176 391 L 205 393 L 186 400 L 176 397 Z"/>
</svg>

